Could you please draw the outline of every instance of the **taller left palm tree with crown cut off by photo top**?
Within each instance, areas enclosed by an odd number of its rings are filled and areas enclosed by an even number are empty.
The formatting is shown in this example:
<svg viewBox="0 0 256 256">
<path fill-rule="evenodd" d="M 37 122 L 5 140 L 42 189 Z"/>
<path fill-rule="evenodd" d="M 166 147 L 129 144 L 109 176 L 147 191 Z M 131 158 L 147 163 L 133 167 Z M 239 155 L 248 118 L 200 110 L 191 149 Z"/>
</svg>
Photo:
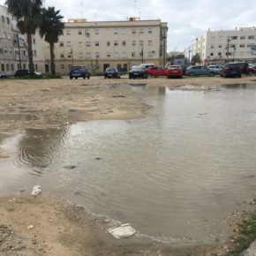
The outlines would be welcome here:
<svg viewBox="0 0 256 256">
<path fill-rule="evenodd" d="M 32 34 L 41 22 L 41 0 L 6 0 L 7 10 L 17 19 L 17 27 L 21 34 L 27 36 L 27 52 L 29 69 L 34 72 Z"/>
</svg>

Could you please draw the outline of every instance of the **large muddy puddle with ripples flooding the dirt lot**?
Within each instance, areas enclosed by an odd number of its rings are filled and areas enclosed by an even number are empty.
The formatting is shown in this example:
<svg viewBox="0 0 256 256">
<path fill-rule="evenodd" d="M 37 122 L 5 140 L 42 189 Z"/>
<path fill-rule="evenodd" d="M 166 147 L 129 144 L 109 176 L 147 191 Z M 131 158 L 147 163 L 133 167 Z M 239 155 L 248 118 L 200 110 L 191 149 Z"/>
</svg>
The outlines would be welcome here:
<svg viewBox="0 0 256 256">
<path fill-rule="evenodd" d="M 0 192 L 41 184 L 149 237 L 225 241 L 231 212 L 256 193 L 256 90 L 125 90 L 154 106 L 147 117 L 31 129 L 2 141 L 17 154 L 0 162 Z"/>
</svg>

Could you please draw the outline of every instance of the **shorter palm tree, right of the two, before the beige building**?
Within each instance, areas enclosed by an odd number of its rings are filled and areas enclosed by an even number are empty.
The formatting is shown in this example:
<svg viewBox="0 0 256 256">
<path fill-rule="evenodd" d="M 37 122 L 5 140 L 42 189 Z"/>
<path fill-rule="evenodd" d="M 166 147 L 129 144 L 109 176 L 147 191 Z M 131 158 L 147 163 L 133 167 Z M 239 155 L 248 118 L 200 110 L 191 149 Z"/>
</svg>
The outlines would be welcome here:
<svg viewBox="0 0 256 256">
<path fill-rule="evenodd" d="M 50 54 L 50 71 L 55 75 L 55 55 L 54 44 L 58 41 L 58 37 L 63 34 L 64 18 L 59 14 L 60 11 L 55 11 L 54 7 L 48 7 L 48 9 L 42 9 L 42 20 L 39 33 L 41 37 L 44 36 L 44 40 L 49 42 L 49 54 Z"/>
</svg>

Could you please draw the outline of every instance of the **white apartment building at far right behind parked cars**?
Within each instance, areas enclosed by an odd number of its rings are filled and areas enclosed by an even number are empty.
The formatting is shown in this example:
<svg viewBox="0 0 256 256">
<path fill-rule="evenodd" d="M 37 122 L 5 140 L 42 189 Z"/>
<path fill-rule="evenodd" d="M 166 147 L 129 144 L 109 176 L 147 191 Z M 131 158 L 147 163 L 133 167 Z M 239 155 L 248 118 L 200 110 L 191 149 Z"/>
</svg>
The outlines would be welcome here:
<svg viewBox="0 0 256 256">
<path fill-rule="evenodd" d="M 192 41 L 191 56 L 200 54 L 202 64 L 232 61 L 256 62 L 256 27 L 210 31 Z"/>
</svg>

